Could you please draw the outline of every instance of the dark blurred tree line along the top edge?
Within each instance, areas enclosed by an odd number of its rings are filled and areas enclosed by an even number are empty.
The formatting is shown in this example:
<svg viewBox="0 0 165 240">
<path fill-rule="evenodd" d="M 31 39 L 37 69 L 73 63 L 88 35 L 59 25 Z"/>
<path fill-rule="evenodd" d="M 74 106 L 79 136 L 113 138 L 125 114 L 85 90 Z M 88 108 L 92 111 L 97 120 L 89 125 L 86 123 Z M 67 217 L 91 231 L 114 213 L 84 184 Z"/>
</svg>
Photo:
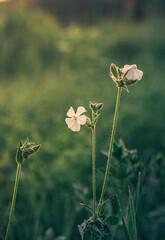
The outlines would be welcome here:
<svg viewBox="0 0 165 240">
<path fill-rule="evenodd" d="M 62 23 L 92 23 L 105 17 L 143 20 L 165 13 L 164 0 L 13 0 L 42 7 Z"/>
</svg>

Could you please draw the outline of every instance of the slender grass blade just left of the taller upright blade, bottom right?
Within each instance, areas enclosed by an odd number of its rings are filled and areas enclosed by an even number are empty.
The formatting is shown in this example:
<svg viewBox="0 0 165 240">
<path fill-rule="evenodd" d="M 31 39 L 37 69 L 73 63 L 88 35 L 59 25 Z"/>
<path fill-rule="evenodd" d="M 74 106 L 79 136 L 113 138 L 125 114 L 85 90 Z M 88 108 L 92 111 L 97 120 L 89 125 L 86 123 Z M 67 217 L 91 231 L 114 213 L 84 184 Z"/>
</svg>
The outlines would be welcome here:
<svg viewBox="0 0 165 240">
<path fill-rule="evenodd" d="M 132 193 L 129 186 L 128 186 L 128 191 L 129 191 L 129 205 L 130 205 L 132 228 L 133 228 L 135 240 L 137 240 L 135 205 L 134 205 L 134 200 L 133 200 Z"/>
</svg>

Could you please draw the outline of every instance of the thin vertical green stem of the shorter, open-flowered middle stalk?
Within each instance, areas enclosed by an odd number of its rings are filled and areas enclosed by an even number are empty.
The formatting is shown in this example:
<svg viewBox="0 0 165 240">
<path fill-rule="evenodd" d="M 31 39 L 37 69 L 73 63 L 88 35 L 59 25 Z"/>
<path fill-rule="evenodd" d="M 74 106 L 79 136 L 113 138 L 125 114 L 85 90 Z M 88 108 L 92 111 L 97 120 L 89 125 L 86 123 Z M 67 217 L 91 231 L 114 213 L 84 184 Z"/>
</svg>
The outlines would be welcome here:
<svg viewBox="0 0 165 240">
<path fill-rule="evenodd" d="M 94 120 L 94 113 L 92 113 Z M 96 126 L 92 128 L 92 183 L 93 183 L 93 211 L 96 210 Z"/>
</svg>

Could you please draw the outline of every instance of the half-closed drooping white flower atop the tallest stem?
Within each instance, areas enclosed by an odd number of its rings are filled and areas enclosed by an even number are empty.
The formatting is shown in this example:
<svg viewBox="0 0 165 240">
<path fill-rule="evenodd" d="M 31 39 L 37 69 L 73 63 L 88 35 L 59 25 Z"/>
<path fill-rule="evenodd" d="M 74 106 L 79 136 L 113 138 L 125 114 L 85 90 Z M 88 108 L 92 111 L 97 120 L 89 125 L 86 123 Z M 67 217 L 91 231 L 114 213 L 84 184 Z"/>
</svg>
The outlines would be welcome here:
<svg viewBox="0 0 165 240">
<path fill-rule="evenodd" d="M 125 65 L 124 68 L 121 68 L 121 71 L 128 80 L 141 80 L 143 76 L 143 72 L 137 69 L 136 64 Z"/>
</svg>

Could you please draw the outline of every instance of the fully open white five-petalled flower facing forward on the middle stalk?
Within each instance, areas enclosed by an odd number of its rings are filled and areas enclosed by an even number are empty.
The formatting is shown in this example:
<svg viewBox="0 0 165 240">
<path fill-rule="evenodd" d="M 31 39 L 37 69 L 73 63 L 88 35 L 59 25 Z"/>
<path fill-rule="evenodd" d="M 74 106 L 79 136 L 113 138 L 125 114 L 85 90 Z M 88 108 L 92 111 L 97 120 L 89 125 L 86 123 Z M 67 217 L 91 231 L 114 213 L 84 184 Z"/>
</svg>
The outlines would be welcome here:
<svg viewBox="0 0 165 240">
<path fill-rule="evenodd" d="M 76 113 L 72 107 L 69 108 L 69 111 L 66 114 L 69 118 L 65 118 L 65 122 L 68 125 L 68 128 L 70 128 L 73 132 L 80 131 L 80 125 L 84 125 L 86 123 L 87 117 L 85 115 L 81 115 L 84 112 L 86 112 L 84 107 L 78 107 Z"/>
</svg>

